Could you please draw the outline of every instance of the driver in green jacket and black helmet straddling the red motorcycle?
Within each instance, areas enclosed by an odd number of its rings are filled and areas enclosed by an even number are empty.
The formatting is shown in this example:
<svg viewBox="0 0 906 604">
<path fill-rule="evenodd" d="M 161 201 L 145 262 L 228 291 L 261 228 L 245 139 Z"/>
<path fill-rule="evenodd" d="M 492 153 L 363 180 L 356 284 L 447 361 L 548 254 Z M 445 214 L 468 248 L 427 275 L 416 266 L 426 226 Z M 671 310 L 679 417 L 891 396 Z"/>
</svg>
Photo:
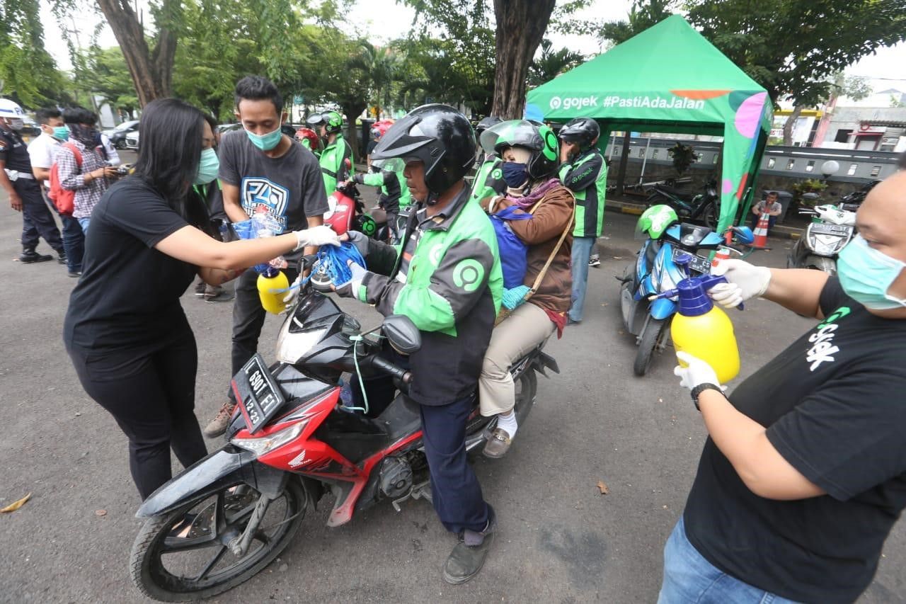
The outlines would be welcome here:
<svg viewBox="0 0 906 604">
<path fill-rule="evenodd" d="M 476 406 L 482 361 L 500 309 L 503 273 L 490 219 L 468 202 L 463 177 L 475 161 L 475 135 L 452 107 L 423 105 L 382 139 L 373 159 L 399 157 L 412 198 L 399 247 L 352 233 L 369 270 L 351 263 L 342 296 L 375 305 L 384 316 L 405 315 L 421 331 L 421 348 L 392 360 L 409 365 L 409 396 L 419 404 L 432 502 L 460 541 L 444 564 L 444 580 L 464 583 L 481 570 L 494 539 L 494 510 L 466 458 L 467 418 Z M 406 360 L 408 359 L 408 361 Z M 371 380 L 368 392 L 386 385 Z M 392 392 L 392 388 L 390 388 Z M 372 413 L 390 401 L 370 397 Z"/>
</svg>

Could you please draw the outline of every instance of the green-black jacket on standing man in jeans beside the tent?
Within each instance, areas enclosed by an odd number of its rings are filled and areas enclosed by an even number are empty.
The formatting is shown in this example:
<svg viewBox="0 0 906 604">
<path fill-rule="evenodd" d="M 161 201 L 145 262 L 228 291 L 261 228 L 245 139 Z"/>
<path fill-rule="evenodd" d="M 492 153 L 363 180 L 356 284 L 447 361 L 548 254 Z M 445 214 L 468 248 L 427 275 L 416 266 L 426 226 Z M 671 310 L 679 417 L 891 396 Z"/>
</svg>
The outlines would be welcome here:
<svg viewBox="0 0 906 604">
<path fill-rule="evenodd" d="M 560 181 L 575 195 L 573 237 L 601 237 L 604 226 L 604 195 L 607 164 L 596 148 L 585 151 L 560 167 Z"/>
</svg>

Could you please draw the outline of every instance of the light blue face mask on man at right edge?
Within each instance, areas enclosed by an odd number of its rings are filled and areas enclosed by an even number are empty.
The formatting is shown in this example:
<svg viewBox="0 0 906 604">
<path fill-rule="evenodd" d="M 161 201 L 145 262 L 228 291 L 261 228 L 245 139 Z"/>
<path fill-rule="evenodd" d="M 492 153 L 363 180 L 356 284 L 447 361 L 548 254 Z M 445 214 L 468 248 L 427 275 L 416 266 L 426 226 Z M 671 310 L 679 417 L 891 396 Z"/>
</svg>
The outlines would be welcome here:
<svg viewBox="0 0 906 604">
<path fill-rule="evenodd" d="M 837 276 L 843 291 L 872 310 L 906 307 L 906 299 L 887 293 L 903 269 L 906 262 L 872 248 L 862 235 L 846 244 L 837 258 Z"/>
</svg>

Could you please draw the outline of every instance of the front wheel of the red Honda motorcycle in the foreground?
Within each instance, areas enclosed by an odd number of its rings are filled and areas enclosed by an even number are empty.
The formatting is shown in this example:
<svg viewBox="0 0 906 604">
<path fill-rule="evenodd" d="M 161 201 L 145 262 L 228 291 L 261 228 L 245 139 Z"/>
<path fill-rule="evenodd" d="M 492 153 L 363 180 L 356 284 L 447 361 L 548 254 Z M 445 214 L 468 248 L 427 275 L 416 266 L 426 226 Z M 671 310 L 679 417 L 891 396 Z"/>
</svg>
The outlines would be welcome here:
<svg viewBox="0 0 906 604">
<path fill-rule="evenodd" d="M 183 602 L 210 598 L 251 579 L 293 539 L 304 521 L 307 493 L 290 478 L 270 503 L 246 554 L 228 543 L 242 534 L 261 493 L 240 483 L 150 518 L 130 554 L 136 587 L 151 599 Z"/>
</svg>

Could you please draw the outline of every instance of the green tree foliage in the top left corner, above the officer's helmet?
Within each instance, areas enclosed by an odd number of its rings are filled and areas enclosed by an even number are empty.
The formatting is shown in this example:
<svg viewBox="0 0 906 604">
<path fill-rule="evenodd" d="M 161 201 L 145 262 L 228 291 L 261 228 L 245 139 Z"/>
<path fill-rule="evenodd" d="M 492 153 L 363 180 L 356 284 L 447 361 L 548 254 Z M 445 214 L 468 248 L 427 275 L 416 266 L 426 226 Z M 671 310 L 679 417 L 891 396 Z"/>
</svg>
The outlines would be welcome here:
<svg viewBox="0 0 906 604">
<path fill-rule="evenodd" d="M 44 50 L 39 13 L 39 0 L 0 3 L 0 88 L 30 108 L 68 98 L 63 74 Z"/>
</svg>

